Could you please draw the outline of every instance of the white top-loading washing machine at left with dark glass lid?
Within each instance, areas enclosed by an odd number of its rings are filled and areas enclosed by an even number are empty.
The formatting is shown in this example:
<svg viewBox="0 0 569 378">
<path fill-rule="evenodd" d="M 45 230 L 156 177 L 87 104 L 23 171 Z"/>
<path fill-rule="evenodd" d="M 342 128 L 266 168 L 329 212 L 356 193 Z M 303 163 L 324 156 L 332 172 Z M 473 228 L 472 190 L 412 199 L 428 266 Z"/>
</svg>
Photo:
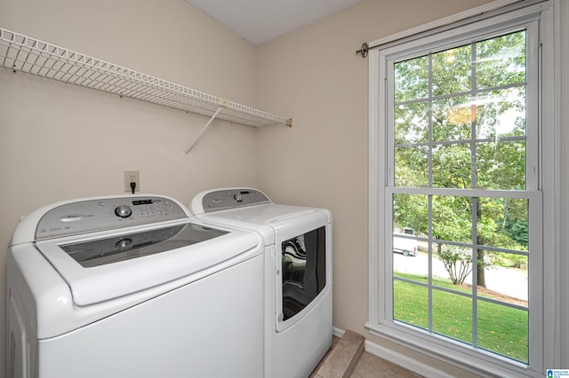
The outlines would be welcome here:
<svg viewBox="0 0 569 378">
<path fill-rule="evenodd" d="M 263 376 L 263 242 L 156 195 L 63 201 L 8 249 L 14 377 Z"/>
</svg>

